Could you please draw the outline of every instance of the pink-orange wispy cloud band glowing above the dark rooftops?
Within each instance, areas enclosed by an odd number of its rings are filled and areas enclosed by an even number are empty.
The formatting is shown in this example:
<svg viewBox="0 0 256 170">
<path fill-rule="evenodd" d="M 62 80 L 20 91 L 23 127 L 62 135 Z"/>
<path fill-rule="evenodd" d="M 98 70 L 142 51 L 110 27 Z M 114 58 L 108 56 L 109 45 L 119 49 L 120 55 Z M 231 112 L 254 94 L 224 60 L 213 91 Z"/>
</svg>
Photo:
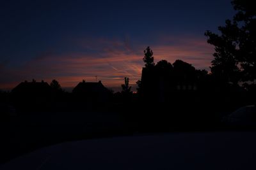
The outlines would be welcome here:
<svg viewBox="0 0 256 170">
<path fill-rule="evenodd" d="M 170 41 L 172 39 L 172 41 Z M 176 39 L 176 40 L 175 40 Z M 205 39 L 159 38 L 150 46 L 155 62 L 166 59 L 174 62 L 182 59 L 196 68 L 207 68 L 212 60 L 212 46 Z M 129 38 L 124 41 L 109 39 L 74 39 L 79 49 L 76 52 L 42 52 L 20 67 L 1 69 L 0 89 L 17 85 L 20 81 L 36 80 L 60 81 L 63 87 L 74 87 L 79 81 L 102 80 L 108 87 L 120 86 L 124 76 L 129 76 L 131 84 L 141 78 L 143 50 L 147 45 L 131 46 Z"/>
</svg>

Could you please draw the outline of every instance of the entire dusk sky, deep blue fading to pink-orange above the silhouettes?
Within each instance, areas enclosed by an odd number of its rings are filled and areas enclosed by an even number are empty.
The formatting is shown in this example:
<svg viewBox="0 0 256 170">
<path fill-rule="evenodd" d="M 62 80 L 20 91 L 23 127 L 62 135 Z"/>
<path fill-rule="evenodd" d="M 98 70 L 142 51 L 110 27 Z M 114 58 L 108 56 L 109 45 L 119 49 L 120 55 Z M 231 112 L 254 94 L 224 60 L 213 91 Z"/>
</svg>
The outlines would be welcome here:
<svg viewBox="0 0 256 170">
<path fill-rule="evenodd" d="M 64 89 L 101 80 L 118 90 L 125 76 L 135 87 L 147 46 L 155 63 L 181 59 L 209 71 L 214 46 L 204 32 L 234 13 L 229 0 L 3 0 L 0 89 L 56 79 Z"/>
</svg>

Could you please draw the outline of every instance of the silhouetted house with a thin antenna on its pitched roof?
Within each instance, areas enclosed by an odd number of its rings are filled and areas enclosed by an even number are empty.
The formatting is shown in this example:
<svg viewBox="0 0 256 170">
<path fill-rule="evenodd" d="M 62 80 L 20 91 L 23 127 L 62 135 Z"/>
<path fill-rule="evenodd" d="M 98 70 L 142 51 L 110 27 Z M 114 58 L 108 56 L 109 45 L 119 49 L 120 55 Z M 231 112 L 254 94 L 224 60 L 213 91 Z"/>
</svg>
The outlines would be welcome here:
<svg viewBox="0 0 256 170">
<path fill-rule="evenodd" d="M 99 82 L 82 81 L 72 90 L 77 99 L 88 102 L 106 102 L 111 96 L 111 92 Z"/>
</svg>

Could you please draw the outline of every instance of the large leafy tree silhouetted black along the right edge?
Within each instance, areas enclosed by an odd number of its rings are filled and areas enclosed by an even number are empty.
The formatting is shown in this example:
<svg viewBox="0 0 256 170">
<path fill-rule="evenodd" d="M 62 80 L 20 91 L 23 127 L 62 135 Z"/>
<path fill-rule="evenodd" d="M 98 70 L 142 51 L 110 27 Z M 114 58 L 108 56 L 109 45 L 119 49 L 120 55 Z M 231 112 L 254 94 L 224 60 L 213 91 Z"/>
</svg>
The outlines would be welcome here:
<svg viewBox="0 0 256 170">
<path fill-rule="evenodd" d="M 226 82 L 256 80 L 256 10 L 253 1 L 233 0 L 237 11 L 220 34 L 205 32 L 207 42 L 215 46 L 211 72 Z"/>
</svg>

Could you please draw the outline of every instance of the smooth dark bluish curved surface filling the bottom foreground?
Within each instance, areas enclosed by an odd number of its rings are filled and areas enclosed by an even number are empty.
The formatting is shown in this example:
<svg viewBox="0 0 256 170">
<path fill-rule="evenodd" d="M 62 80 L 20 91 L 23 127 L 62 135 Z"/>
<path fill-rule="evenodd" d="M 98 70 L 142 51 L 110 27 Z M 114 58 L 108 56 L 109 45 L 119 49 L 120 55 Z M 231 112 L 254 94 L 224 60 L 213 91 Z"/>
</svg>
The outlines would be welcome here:
<svg viewBox="0 0 256 170">
<path fill-rule="evenodd" d="M 256 169 L 256 132 L 172 132 L 52 145 L 1 169 Z"/>
</svg>

